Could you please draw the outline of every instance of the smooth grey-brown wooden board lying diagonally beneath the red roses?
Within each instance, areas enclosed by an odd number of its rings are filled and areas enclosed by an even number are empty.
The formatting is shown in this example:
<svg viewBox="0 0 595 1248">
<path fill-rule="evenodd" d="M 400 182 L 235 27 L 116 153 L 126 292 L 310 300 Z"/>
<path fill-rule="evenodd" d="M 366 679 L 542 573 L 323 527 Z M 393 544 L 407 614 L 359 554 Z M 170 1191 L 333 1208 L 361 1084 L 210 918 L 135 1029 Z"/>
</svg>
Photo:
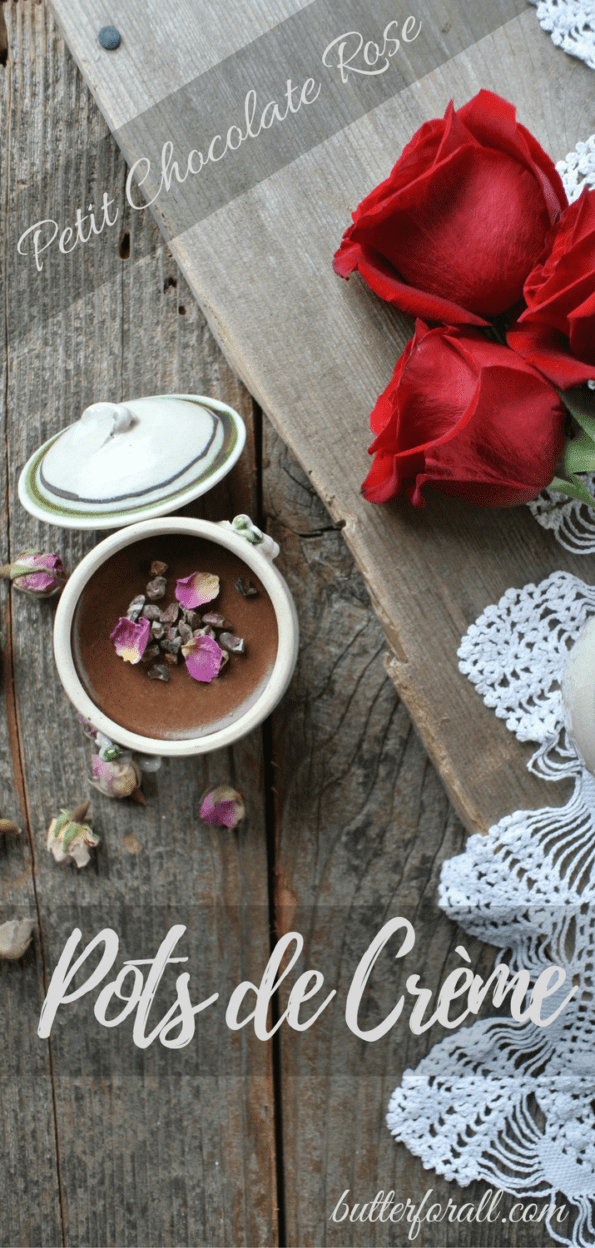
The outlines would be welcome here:
<svg viewBox="0 0 595 1248">
<path fill-rule="evenodd" d="M 351 210 L 450 97 L 460 105 L 480 86 L 498 91 L 558 158 L 595 129 L 593 75 L 553 46 L 524 0 L 423 0 L 425 41 L 402 49 L 380 97 L 369 82 L 342 95 L 321 56 L 343 30 L 378 39 L 388 17 L 402 21 L 405 10 L 388 0 L 236 0 L 225 16 L 211 0 L 127 0 L 116 52 L 96 41 L 116 20 L 107 4 L 52 7 L 128 163 L 152 162 L 137 170 L 150 198 L 163 144 L 183 176 L 188 152 L 238 121 L 248 89 L 264 101 L 281 99 L 289 76 L 322 82 L 303 126 L 278 125 L 262 149 L 261 139 L 246 144 L 237 166 L 207 166 L 182 185 L 173 176 L 151 211 L 226 354 L 343 525 L 393 649 L 390 674 L 467 826 L 551 801 L 458 673 L 455 651 L 509 585 L 559 567 L 589 579 L 589 564 L 560 550 L 526 509 L 480 512 L 438 495 L 422 513 L 363 503 L 368 413 L 410 331 L 358 280 L 338 280 L 331 260 Z M 45 255 L 57 271 L 61 257 Z"/>
</svg>

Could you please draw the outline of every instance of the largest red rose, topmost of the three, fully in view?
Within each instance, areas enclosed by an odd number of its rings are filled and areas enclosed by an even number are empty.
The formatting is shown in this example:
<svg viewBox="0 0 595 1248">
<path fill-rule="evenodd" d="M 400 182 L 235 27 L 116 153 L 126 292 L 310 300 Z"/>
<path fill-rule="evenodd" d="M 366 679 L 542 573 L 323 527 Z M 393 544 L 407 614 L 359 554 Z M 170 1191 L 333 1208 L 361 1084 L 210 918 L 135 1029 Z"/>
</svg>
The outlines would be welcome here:
<svg viewBox="0 0 595 1248">
<path fill-rule="evenodd" d="M 353 213 L 334 270 L 403 312 L 485 324 L 523 296 L 564 187 L 511 104 L 480 91 L 428 121 Z"/>
</svg>

